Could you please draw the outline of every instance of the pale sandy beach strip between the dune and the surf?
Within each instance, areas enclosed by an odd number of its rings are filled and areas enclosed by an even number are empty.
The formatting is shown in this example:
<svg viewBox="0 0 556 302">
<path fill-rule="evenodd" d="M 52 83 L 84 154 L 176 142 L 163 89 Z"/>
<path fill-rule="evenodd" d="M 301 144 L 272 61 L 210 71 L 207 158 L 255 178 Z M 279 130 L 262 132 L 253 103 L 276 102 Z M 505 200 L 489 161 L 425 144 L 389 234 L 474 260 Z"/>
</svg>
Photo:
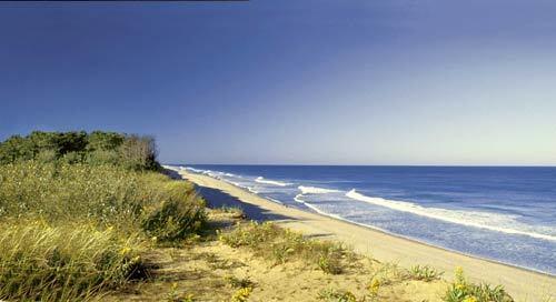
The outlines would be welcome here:
<svg viewBox="0 0 556 302">
<path fill-rule="evenodd" d="M 445 271 L 446 279 L 451 279 L 454 269 L 461 266 L 473 281 L 503 284 L 516 301 L 546 301 L 556 292 L 556 278 L 550 275 L 468 256 L 329 217 L 288 208 L 207 175 L 187 171 L 179 173 L 196 183 L 209 203 L 227 205 L 240 203 L 250 219 L 275 221 L 307 235 L 339 240 L 357 252 L 379 261 L 397 262 L 406 268 L 429 264 Z"/>
</svg>

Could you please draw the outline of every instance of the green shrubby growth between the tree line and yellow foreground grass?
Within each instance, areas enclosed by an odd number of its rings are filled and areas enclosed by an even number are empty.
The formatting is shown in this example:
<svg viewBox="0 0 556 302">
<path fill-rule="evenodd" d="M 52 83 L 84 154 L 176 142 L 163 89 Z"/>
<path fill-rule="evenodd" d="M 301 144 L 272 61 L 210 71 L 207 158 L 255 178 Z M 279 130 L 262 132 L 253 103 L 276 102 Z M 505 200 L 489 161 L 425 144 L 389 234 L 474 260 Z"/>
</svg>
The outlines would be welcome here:
<svg viewBox="0 0 556 302">
<path fill-rule="evenodd" d="M 156 172 L 34 161 L 0 165 L 0 220 L 39 217 L 176 240 L 202 226 L 205 202 L 190 183 Z"/>
</svg>

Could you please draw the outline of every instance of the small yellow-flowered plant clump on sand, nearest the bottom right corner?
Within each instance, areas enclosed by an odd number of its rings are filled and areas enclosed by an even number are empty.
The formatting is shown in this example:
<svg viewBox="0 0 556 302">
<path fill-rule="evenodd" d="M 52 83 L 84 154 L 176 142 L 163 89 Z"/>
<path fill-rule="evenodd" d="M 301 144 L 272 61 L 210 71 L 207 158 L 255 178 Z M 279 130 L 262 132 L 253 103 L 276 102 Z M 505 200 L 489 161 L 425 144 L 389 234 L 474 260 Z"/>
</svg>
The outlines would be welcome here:
<svg viewBox="0 0 556 302">
<path fill-rule="evenodd" d="M 513 302 L 502 285 L 474 284 L 467 281 L 461 268 L 456 268 L 455 278 L 444 296 L 446 302 Z"/>
</svg>

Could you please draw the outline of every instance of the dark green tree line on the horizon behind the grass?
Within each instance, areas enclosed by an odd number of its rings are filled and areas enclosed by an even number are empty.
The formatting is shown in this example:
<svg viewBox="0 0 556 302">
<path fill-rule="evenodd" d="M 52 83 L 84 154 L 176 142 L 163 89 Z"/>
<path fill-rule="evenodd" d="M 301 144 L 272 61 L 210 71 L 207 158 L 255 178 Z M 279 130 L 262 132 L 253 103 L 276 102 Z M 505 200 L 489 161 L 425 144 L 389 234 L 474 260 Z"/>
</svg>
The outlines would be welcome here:
<svg viewBox="0 0 556 302">
<path fill-rule="evenodd" d="M 33 131 L 0 142 L 0 164 L 29 160 L 113 164 L 132 170 L 160 169 L 152 137 L 105 131 Z"/>
</svg>

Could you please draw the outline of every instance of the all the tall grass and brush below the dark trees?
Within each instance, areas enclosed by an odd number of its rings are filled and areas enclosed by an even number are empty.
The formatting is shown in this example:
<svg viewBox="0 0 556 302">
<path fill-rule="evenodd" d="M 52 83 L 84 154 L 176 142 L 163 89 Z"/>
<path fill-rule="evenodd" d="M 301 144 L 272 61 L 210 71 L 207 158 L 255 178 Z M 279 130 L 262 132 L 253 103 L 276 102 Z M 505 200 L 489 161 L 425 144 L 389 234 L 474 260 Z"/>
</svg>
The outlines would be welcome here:
<svg viewBox="0 0 556 302">
<path fill-rule="evenodd" d="M 115 165 L 0 165 L 0 299 L 87 300 L 145 274 L 156 239 L 199 231 L 192 185 Z"/>
</svg>

